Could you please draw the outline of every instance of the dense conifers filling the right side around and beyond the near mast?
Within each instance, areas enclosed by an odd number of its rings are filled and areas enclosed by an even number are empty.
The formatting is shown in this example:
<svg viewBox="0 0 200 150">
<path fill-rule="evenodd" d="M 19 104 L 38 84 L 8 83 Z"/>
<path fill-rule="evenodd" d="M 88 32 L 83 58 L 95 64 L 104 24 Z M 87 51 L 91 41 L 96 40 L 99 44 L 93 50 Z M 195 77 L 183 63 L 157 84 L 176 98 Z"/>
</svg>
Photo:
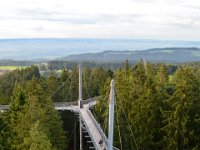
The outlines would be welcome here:
<svg viewBox="0 0 200 150">
<path fill-rule="evenodd" d="M 115 136 L 121 149 L 200 149 L 199 68 L 180 66 L 169 77 L 164 64 L 128 62 L 114 74 Z M 102 87 L 95 112 L 102 126 L 108 118 L 109 82 Z M 107 126 L 105 126 L 107 131 Z"/>
</svg>

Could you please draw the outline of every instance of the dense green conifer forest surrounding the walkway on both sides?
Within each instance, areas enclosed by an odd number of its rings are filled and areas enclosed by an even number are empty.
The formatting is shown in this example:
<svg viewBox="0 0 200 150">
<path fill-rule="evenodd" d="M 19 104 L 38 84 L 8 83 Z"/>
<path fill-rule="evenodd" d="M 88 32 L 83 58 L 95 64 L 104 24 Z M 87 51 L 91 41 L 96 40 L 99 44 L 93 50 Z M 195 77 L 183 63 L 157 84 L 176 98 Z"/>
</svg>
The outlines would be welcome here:
<svg viewBox="0 0 200 150">
<path fill-rule="evenodd" d="M 92 112 L 107 133 L 114 78 L 114 146 L 119 149 L 198 150 L 199 68 L 198 63 L 172 67 L 128 61 L 115 70 L 84 67 L 83 98 L 101 96 Z M 42 77 L 35 66 L 5 74 L 0 78 L 0 103 L 10 104 L 10 110 L 0 113 L 0 149 L 73 149 L 73 121 L 57 112 L 53 102 L 77 99 L 77 68 L 49 77 Z"/>
</svg>

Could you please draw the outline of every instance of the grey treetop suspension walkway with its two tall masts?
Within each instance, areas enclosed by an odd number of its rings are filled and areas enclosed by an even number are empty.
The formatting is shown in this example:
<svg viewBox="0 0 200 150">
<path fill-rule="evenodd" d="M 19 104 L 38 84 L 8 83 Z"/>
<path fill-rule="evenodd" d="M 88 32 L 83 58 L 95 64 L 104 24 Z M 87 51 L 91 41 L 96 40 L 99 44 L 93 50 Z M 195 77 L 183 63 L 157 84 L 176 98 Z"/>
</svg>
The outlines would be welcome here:
<svg viewBox="0 0 200 150">
<path fill-rule="evenodd" d="M 82 100 L 82 67 L 79 65 L 79 99 L 75 102 L 55 102 L 54 106 L 56 110 L 70 110 L 79 115 L 79 129 L 80 129 L 80 150 L 83 150 L 83 133 L 87 133 L 91 140 L 87 143 L 91 143 L 92 146 L 89 149 L 95 150 L 119 150 L 113 147 L 113 126 L 114 126 L 114 80 L 110 84 L 110 103 L 109 103 L 109 133 L 108 137 L 101 129 L 100 124 L 90 111 L 90 108 L 95 106 L 98 102 L 98 98 L 90 98 Z M 0 111 L 6 111 L 9 109 L 9 105 L 0 105 Z"/>
</svg>

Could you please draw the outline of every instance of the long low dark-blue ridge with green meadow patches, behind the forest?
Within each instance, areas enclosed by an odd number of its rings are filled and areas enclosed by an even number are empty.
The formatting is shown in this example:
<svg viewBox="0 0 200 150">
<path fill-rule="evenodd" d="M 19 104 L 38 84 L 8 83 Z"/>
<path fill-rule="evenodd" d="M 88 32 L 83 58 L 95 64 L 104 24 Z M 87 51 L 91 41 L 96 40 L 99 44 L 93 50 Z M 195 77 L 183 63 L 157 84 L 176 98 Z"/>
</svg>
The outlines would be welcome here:
<svg viewBox="0 0 200 150">
<path fill-rule="evenodd" d="M 200 49 L 188 48 L 154 48 L 143 51 L 104 51 L 98 53 L 84 53 L 70 55 L 59 60 L 67 61 L 95 61 L 95 62 L 122 62 L 128 59 L 137 62 L 146 59 L 150 62 L 187 63 L 200 61 Z"/>
</svg>

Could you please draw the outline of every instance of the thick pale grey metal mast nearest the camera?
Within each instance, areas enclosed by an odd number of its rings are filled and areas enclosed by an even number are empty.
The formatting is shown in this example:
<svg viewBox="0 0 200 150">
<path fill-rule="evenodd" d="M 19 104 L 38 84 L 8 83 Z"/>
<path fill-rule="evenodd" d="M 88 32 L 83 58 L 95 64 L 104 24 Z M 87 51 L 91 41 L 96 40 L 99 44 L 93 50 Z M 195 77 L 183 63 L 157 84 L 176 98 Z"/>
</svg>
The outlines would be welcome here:
<svg viewBox="0 0 200 150">
<path fill-rule="evenodd" d="M 109 104 L 109 129 L 108 129 L 108 150 L 113 149 L 113 127 L 114 127 L 114 101 L 115 101 L 115 91 L 114 80 L 110 84 L 110 104 Z"/>
</svg>

